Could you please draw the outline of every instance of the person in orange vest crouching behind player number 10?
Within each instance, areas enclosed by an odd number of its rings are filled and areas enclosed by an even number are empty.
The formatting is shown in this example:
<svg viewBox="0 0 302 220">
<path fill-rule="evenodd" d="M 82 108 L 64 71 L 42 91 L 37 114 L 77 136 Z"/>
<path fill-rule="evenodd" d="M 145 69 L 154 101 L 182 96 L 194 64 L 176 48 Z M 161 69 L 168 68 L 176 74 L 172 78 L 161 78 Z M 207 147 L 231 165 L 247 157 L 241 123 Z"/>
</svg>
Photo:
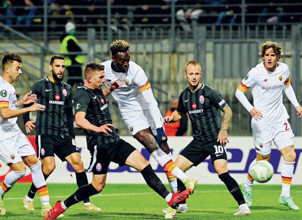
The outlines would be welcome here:
<svg viewBox="0 0 302 220">
<path fill-rule="evenodd" d="M 172 113 L 176 110 L 178 99 L 172 99 L 170 104 L 171 108 L 168 110 L 168 112 L 166 112 L 165 117 L 171 116 Z M 188 129 L 188 116 L 184 114 L 179 121 L 166 124 L 164 126 L 167 136 L 185 136 Z"/>
</svg>

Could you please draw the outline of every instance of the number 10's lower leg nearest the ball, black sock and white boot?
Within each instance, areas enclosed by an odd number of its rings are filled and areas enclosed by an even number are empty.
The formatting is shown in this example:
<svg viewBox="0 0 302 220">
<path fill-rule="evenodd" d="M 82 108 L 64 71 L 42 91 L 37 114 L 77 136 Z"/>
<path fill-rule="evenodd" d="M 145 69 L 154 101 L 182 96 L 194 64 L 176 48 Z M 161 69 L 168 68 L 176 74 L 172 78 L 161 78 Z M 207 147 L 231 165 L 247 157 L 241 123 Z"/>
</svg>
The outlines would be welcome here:
<svg viewBox="0 0 302 220">
<path fill-rule="evenodd" d="M 214 167 L 218 174 L 220 180 L 225 184 L 228 188 L 231 195 L 237 201 L 239 205 L 239 209 L 236 211 L 234 215 L 249 215 L 251 214 L 251 210 L 248 208 L 243 194 L 240 191 L 240 187 L 236 180 L 232 178 L 227 170 L 226 160 L 225 159 L 218 159 L 214 161 Z"/>
</svg>

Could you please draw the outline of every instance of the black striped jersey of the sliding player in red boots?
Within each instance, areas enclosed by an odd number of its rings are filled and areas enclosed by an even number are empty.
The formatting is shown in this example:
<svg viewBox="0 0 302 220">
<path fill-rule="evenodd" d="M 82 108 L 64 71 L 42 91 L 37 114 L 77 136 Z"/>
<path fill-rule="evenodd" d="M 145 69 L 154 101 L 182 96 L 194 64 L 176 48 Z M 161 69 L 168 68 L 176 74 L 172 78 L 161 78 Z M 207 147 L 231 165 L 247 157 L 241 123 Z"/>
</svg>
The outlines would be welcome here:
<svg viewBox="0 0 302 220">
<path fill-rule="evenodd" d="M 111 116 L 108 110 L 108 103 L 102 90 L 90 89 L 79 83 L 77 85 L 76 95 L 74 97 L 75 113 L 85 112 L 85 118 L 93 125 L 99 127 L 105 124 L 112 124 Z M 96 133 L 90 130 L 84 130 L 87 140 L 87 146 L 93 147 L 98 144 L 107 144 L 120 140 L 120 137 L 110 127 L 112 132 Z"/>
</svg>

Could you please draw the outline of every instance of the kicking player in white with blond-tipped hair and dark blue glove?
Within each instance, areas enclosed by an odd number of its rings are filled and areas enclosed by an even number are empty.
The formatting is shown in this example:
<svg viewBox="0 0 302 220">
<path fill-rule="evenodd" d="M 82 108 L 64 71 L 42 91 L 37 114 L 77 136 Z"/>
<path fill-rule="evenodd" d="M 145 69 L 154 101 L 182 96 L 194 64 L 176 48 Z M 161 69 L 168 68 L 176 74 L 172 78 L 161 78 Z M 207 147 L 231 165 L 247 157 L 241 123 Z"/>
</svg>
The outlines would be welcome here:
<svg viewBox="0 0 302 220">
<path fill-rule="evenodd" d="M 112 91 L 118 102 L 121 116 L 127 128 L 165 169 L 172 193 L 177 191 L 177 180 L 193 191 L 197 181 L 188 178 L 174 161 L 164 132 L 164 121 L 153 96 L 151 85 L 144 70 L 130 61 L 130 44 L 117 40 L 110 45 L 112 59 L 103 62 L 106 87 L 111 82 L 120 81 L 123 85 Z M 181 207 L 179 208 L 181 209 Z M 175 210 L 176 212 L 176 210 Z"/>
</svg>

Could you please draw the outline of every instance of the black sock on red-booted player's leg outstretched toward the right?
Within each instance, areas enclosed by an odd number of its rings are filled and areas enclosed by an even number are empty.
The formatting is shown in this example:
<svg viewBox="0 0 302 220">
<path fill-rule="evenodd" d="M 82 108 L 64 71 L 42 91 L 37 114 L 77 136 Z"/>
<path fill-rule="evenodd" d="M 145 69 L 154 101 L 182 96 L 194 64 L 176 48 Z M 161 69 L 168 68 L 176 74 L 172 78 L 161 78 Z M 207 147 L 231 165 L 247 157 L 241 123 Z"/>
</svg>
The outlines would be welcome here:
<svg viewBox="0 0 302 220">
<path fill-rule="evenodd" d="M 151 165 L 147 165 L 142 171 L 141 174 L 145 179 L 148 186 L 153 189 L 161 197 L 166 198 L 169 194 L 169 191 L 166 189 L 164 184 L 160 181 L 160 178 L 156 176 Z"/>
</svg>

